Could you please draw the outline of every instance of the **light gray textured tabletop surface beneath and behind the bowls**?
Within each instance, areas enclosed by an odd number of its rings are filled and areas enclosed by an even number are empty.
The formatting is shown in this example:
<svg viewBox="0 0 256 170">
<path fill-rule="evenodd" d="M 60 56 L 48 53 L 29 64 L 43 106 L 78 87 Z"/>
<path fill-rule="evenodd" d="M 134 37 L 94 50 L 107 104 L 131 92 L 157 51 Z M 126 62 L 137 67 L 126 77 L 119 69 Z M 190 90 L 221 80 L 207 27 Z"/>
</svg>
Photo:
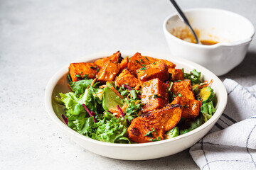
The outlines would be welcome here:
<svg viewBox="0 0 256 170">
<path fill-rule="evenodd" d="M 256 25 L 255 0 L 178 3 L 228 9 Z M 139 162 L 92 154 L 61 132 L 44 107 L 50 77 L 79 57 L 117 50 L 169 52 L 162 22 L 170 13 L 167 0 L 1 0 L 0 169 L 198 169 L 188 150 Z M 256 84 L 255 57 L 253 40 L 242 64 L 220 78 Z"/>
</svg>

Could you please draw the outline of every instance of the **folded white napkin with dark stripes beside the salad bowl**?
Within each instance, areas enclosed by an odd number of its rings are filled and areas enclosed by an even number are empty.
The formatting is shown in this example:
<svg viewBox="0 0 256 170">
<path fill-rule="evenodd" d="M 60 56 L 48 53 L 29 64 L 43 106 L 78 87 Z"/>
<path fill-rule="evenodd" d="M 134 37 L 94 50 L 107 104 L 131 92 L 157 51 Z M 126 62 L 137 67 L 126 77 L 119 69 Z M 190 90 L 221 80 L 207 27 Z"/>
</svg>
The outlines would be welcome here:
<svg viewBox="0 0 256 170">
<path fill-rule="evenodd" d="M 190 149 L 200 169 L 256 169 L 256 85 L 225 79 L 228 104 L 212 130 Z"/>
</svg>

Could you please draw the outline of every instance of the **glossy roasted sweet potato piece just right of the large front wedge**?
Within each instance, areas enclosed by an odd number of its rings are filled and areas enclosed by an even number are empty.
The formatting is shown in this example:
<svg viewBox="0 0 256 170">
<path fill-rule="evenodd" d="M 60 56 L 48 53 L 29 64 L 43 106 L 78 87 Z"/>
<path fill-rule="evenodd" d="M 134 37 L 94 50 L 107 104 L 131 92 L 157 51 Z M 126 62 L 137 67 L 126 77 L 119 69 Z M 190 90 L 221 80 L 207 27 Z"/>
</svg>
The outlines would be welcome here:
<svg viewBox="0 0 256 170">
<path fill-rule="evenodd" d="M 202 101 L 177 96 L 171 104 L 179 104 L 182 106 L 181 116 L 183 118 L 196 118 L 200 112 Z"/>
</svg>

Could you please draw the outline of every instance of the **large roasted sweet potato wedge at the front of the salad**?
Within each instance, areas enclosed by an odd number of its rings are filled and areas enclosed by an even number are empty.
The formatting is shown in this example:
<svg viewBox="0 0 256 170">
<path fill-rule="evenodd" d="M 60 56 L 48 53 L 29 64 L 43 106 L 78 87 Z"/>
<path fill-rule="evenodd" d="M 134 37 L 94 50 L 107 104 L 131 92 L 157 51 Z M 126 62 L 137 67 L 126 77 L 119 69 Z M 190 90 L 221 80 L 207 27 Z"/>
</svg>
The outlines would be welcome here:
<svg viewBox="0 0 256 170">
<path fill-rule="evenodd" d="M 129 138 L 138 143 L 164 140 L 166 131 L 174 128 L 181 120 L 181 108 L 167 106 L 144 113 L 132 120 L 128 128 Z"/>
</svg>

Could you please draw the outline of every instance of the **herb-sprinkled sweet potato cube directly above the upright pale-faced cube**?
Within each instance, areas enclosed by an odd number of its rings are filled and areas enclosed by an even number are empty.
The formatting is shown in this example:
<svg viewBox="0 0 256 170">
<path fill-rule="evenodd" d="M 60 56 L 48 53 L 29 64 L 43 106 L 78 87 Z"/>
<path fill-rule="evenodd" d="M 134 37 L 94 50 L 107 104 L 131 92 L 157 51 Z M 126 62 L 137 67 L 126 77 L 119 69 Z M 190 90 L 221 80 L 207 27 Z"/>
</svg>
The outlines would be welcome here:
<svg viewBox="0 0 256 170">
<path fill-rule="evenodd" d="M 166 81 L 169 77 L 168 67 L 163 60 L 159 60 L 158 62 L 137 69 L 137 77 L 142 82 L 155 78 L 159 78 L 161 81 Z"/>
</svg>

